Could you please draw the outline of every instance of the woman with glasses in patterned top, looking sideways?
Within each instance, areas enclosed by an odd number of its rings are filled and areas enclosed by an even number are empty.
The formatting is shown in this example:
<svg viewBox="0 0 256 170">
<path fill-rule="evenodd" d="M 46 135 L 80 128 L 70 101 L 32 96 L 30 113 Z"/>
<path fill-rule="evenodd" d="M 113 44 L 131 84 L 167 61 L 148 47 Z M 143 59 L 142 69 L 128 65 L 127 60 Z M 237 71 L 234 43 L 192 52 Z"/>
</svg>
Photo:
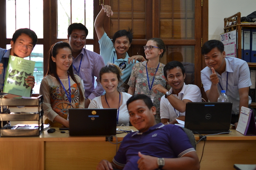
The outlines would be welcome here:
<svg viewBox="0 0 256 170">
<path fill-rule="evenodd" d="M 143 48 L 148 61 L 139 62 L 134 65 L 128 82 L 130 86 L 128 93 L 131 95 L 145 94 L 150 96 L 157 108 L 156 122 L 160 123 L 160 99 L 164 94 L 160 92 L 155 94 L 152 87 L 158 84 L 166 87 L 166 80 L 163 74 L 163 67 L 165 65 L 159 61 L 163 57 L 166 47 L 163 40 L 151 38 Z"/>
</svg>

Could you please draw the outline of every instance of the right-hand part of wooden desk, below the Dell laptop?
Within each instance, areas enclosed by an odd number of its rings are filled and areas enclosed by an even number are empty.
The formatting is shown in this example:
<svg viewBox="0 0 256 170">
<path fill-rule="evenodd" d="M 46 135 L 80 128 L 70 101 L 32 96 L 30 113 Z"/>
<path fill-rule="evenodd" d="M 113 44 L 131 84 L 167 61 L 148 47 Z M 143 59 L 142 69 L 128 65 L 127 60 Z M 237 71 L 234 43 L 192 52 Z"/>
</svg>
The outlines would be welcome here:
<svg viewBox="0 0 256 170">
<path fill-rule="evenodd" d="M 234 170 L 234 164 L 255 164 L 256 136 L 244 136 L 236 130 L 229 134 L 207 136 L 196 146 L 201 170 Z M 199 140 L 198 135 L 195 139 Z"/>
</svg>

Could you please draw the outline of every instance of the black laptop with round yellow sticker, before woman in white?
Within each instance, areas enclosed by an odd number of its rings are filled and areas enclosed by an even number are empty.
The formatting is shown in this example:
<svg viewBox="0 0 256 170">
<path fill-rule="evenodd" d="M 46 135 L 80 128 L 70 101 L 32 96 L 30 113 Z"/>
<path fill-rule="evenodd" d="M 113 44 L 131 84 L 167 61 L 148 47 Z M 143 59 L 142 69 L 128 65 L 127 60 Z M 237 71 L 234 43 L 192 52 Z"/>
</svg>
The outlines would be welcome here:
<svg viewBox="0 0 256 170">
<path fill-rule="evenodd" d="M 70 136 L 116 135 L 117 109 L 69 109 Z"/>
</svg>

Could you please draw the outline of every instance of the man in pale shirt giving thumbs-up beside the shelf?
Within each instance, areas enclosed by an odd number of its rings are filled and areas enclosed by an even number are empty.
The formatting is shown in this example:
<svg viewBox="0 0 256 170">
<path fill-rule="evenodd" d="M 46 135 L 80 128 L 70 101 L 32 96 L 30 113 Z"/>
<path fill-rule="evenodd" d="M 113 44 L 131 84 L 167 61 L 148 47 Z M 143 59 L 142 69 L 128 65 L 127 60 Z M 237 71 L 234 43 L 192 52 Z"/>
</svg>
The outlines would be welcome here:
<svg viewBox="0 0 256 170">
<path fill-rule="evenodd" d="M 248 96 L 250 85 L 250 70 L 247 62 L 235 57 L 226 57 L 224 45 L 218 40 L 209 40 L 202 47 L 205 67 L 201 71 L 204 91 L 210 102 L 217 102 L 221 90 L 233 103 L 232 123 L 238 122 L 241 107 L 251 103 Z"/>
</svg>

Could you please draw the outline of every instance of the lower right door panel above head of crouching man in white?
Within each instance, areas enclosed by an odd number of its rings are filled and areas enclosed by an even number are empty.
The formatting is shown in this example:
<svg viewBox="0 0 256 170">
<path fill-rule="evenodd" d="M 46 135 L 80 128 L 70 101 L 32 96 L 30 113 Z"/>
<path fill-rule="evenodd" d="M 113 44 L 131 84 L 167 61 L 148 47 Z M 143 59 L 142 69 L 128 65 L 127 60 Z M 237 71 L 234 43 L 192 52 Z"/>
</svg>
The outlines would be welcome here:
<svg viewBox="0 0 256 170">
<path fill-rule="evenodd" d="M 180 61 L 186 71 L 186 84 L 195 82 L 195 46 L 192 45 L 166 45 L 166 53 L 160 62 L 166 64 L 170 61 Z"/>
</svg>

